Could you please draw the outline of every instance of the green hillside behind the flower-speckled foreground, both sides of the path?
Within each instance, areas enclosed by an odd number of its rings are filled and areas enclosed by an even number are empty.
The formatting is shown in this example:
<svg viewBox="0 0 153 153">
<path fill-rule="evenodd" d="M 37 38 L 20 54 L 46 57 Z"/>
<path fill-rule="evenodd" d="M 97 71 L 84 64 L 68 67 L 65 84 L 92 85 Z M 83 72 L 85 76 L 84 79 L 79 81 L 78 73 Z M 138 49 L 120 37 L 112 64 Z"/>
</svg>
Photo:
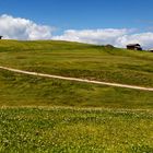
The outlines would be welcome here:
<svg viewBox="0 0 153 153">
<path fill-rule="evenodd" d="M 153 54 L 69 42 L 0 40 L 0 66 L 153 87 Z M 152 108 L 152 92 L 0 70 L 0 105 Z"/>
</svg>

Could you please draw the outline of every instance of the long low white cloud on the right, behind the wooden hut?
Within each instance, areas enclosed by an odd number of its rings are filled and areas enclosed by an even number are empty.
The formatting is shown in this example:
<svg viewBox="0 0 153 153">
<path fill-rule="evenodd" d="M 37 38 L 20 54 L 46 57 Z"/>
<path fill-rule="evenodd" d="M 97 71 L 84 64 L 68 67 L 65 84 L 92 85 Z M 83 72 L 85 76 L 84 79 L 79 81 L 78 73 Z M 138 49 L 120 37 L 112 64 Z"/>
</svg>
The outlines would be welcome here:
<svg viewBox="0 0 153 153">
<path fill-rule="evenodd" d="M 80 42 L 87 44 L 106 45 L 111 44 L 116 47 L 126 47 L 127 44 L 141 44 L 144 48 L 153 47 L 153 33 L 136 34 L 134 30 L 129 28 L 103 28 L 103 30 L 68 30 L 60 36 L 52 39 Z"/>
</svg>

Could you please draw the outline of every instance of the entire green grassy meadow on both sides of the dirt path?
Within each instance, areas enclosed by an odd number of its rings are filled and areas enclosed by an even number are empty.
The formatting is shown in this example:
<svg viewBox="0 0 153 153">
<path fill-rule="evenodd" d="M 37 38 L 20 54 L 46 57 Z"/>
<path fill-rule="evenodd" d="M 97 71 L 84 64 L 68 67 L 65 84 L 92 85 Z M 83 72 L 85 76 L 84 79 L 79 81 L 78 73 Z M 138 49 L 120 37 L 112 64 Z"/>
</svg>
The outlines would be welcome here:
<svg viewBox="0 0 153 153">
<path fill-rule="evenodd" d="M 153 87 L 153 54 L 0 40 L 0 66 Z M 0 70 L 0 152 L 153 152 L 153 92 Z"/>
</svg>

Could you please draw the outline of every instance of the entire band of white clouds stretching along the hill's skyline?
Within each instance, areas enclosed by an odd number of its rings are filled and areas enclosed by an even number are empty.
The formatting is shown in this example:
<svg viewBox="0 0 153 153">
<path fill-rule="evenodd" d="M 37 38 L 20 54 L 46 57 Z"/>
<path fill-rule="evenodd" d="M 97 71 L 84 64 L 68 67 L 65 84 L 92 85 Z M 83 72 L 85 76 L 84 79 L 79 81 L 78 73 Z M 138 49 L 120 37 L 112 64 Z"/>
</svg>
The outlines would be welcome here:
<svg viewBox="0 0 153 153">
<path fill-rule="evenodd" d="M 138 43 L 143 48 L 153 48 L 153 33 L 137 33 L 129 28 L 67 30 L 62 35 L 52 36 L 55 28 L 11 15 L 0 15 L 0 35 L 9 39 L 59 39 L 87 44 L 126 47 Z"/>
</svg>

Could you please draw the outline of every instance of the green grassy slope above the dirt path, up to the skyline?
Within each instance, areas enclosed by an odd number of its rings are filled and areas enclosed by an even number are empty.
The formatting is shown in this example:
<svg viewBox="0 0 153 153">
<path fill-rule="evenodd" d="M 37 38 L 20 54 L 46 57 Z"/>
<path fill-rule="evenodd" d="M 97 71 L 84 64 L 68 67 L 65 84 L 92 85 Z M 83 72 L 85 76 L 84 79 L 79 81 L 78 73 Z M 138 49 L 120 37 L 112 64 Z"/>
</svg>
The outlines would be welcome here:
<svg viewBox="0 0 153 153">
<path fill-rule="evenodd" d="M 0 42 L 0 64 L 153 86 L 153 54 L 67 42 Z"/>
</svg>

